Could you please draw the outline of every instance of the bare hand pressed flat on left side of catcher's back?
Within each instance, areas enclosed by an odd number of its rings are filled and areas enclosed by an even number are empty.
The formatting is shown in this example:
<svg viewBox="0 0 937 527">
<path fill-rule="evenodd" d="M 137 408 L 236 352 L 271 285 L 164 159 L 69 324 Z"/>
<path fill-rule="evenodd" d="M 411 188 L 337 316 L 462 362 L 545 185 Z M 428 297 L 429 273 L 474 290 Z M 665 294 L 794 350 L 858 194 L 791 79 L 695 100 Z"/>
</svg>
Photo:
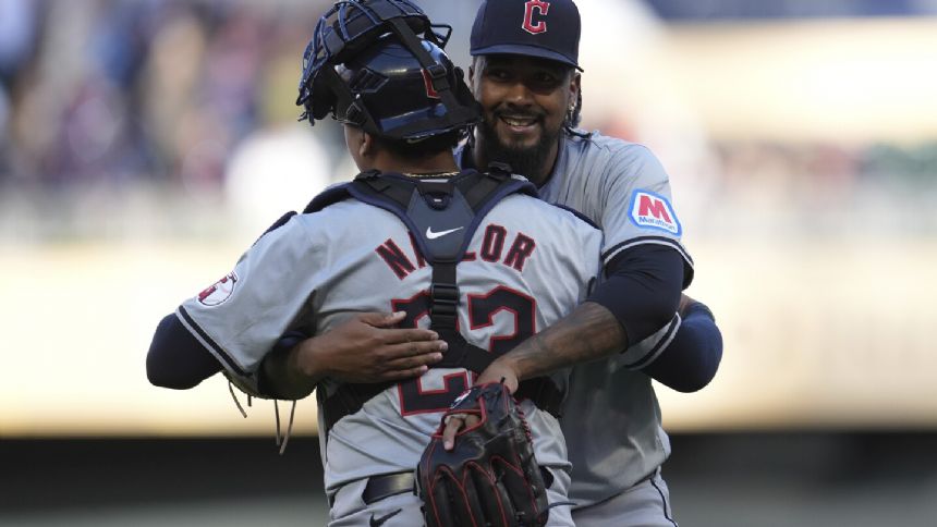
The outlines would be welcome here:
<svg viewBox="0 0 937 527">
<path fill-rule="evenodd" d="M 332 330 L 299 344 L 299 367 L 311 377 L 343 382 L 399 381 L 421 376 L 442 359 L 448 345 L 435 331 L 396 326 L 394 314 L 354 315 Z"/>
</svg>

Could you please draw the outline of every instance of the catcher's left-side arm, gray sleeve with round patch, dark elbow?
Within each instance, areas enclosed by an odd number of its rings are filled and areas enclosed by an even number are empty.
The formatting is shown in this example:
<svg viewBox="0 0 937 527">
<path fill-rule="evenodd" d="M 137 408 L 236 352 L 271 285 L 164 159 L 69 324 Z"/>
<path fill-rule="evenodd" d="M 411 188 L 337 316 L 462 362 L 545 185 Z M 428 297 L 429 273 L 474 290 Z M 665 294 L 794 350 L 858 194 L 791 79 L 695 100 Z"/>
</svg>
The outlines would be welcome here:
<svg viewBox="0 0 937 527">
<path fill-rule="evenodd" d="M 260 360 L 277 344 L 270 334 L 287 331 L 319 287 L 309 269 L 327 264 L 323 242 L 309 236 L 315 225 L 297 217 L 278 222 L 231 272 L 165 317 L 147 354 L 149 381 L 187 389 L 224 368 L 257 390 Z"/>
</svg>

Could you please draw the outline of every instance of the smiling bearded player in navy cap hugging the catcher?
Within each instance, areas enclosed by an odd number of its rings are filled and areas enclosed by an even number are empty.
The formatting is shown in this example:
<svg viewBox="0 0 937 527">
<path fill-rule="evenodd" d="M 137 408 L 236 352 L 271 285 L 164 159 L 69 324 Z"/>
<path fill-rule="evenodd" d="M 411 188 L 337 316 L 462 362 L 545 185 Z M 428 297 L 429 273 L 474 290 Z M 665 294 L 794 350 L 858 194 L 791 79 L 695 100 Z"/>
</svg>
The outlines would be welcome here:
<svg viewBox="0 0 937 527">
<path fill-rule="evenodd" d="M 486 1 L 472 28 L 470 75 L 483 122 L 461 164 L 508 162 L 544 199 L 598 224 L 607 277 L 588 302 L 497 359 L 478 382 L 512 385 L 579 364 L 562 419 L 576 525 L 676 525 L 660 476 L 670 444 L 650 381 L 703 388 L 721 358 L 721 336 L 704 305 L 684 297 L 673 312 L 693 268 L 661 164 L 641 145 L 574 127 L 579 39 L 571 0 Z M 447 434 L 460 426 L 450 421 Z"/>
</svg>

